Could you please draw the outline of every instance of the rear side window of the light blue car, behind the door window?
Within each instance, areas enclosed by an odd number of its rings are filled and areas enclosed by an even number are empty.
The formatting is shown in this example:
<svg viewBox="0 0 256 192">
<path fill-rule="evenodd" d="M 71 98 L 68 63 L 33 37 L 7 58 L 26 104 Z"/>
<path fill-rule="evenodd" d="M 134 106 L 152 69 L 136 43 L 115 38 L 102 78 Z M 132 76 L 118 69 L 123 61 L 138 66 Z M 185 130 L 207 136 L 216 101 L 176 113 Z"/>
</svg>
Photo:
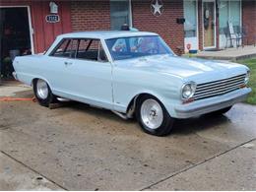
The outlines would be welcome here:
<svg viewBox="0 0 256 192">
<path fill-rule="evenodd" d="M 51 56 L 74 58 L 78 45 L 79 39 L 64 39 L 55 48 Z"/>
</svg>

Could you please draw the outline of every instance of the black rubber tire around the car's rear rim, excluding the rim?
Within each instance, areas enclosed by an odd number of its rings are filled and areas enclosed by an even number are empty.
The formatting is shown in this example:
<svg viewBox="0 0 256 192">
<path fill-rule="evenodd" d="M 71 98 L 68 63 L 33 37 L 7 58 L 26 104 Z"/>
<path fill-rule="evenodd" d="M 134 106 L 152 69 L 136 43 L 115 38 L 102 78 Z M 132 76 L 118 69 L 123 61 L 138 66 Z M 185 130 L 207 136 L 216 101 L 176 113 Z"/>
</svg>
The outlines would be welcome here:
<svg viewBox="0 0 256 192">
<path fill-rule="evenodd" d="M 33 94 L 34 96 L 36 97 L 36 99 L 38 100 L 38 103 L 41 105 L 41 106 L 46 106 L 48 107 L 50 103 L 52 102 L 56 102 L 57 101 L 57 97 L 54 96 L 50 90 L 50 87 L 49 85 L 46 83 L 47 85 L 47 89 L 48 89 L 48 94 L 45 98 L 42 98 L 39 96 L 38 92 L 37 92 L 37 82 L 38 81 L 42 81 L 40 79 L 36 79 L 32 82 L 32 89 L 33 89 Z"/>
</svg>

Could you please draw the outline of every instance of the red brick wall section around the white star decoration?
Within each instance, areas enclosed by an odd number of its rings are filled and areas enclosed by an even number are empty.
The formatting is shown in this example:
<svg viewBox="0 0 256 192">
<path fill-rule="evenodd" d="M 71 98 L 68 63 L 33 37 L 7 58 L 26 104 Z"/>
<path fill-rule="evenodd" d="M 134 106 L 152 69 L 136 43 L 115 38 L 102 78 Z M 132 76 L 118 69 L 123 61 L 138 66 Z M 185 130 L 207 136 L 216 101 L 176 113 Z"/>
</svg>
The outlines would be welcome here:
<svg viewBox="0 0 256 192">
<path fill-rule="evenodd" d="M 160 17 L 151 13 L 151 1 L 132 1 L 133 27 L 140 31 L 158 32 L 172 50 L 181 54 L 184 51 L 184 28 L 176 24 L 183 18 L 183 1 L 162 0 L 164 12 Z"/>
</svg>

